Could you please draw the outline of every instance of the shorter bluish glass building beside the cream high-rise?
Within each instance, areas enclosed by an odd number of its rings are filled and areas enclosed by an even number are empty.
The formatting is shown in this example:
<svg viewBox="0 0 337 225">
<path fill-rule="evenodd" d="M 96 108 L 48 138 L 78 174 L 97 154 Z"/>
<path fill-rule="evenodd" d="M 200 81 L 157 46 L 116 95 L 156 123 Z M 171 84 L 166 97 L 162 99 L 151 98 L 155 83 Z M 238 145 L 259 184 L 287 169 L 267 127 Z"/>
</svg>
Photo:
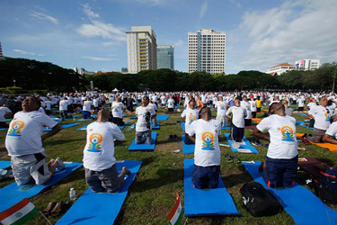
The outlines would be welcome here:
<svg viewBox="0 0 337 225">
<path fill-rule="evenodd" d="M 158 45 L 156 47 L 157 68 L 171 68 L 174 70 L 174 48 L 172 45 Z"/>
</svg>

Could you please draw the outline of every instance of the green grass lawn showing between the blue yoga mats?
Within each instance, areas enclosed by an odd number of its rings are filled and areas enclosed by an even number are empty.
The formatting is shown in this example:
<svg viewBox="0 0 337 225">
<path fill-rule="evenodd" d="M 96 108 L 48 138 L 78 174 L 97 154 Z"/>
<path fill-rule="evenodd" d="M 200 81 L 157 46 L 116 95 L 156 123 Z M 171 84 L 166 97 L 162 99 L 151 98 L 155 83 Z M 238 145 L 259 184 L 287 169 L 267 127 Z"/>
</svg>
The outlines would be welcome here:
<svg viewBox="0 0 337 225">
<path fill-rule="evenodd" d="M 182 106 L 180 106 L 182 109 Z M 163 110 L 159 110 L 159 114 Z M 213 116 L 216 112 L 212 112 Z M 160 121 L 160 130 L 158 133 L 154 152 L 129 152 L 128 146 L 135 137 L 135 131 L 127 132 L 123 130 L 126 141 L 116 147 L 115 157 L 117 160 L 142 160 L 142 166 L 137 173 L 136 180 L 129 188 L 126 201 L 121 208 L 120 214 L 115 224 L 168 224 L 167 214 L 172 209 L 175 202 L 175 193 L 179 193 L 184 204 L 183 189 L 183 158 L 192 158 L 193 155 L 182 154 L 183 133 L 181 125 L 176 123 L 180 120 L 180 114 L 171 114 L 168 121 Z M 261 114 L 259 114 L 261 116 Z M 303 121 L 303 116 L 294 117 L 297 121 Z M 124 118 L 129 121 L 129 115 Z M 133 124 L 136 120 L 130 120 Z M 73 121 L 64 121 L 73 122 Z M 48 159 L 62 157 L 65 161 L 82 162 L 83 149 L 85 145 L 85 130 L 76 130 L 77 128 L 89 124 L 90 121 L 80 121 L 82 125 L 62 130 L 56 136 L 46 139 L 44 142 Z M 223 132 L 229 130 L 223 130 Z M 297 132 L 312 132 L 297 126 Z M 0 131 L 0 160 L 8 160 L 7 152 L 4 148 L 4 138 L 6 131 Z M 177 141 L 168 141 L 170 134 L 177 134 L 180 139 Z M 245 130 L 247 139 L 253 140 L 253 132 Z M 227 143 L 224 135 L 220 137 L 220 143 Z M 262 143 L 267 143 L 263 141 Z M 302 143 L 298 144 L 304 147 Z M 174 153 L 173 150 L 181 149 L 180 153 Z M 264 160 L 267 148 L 258 148 L 260 154 L 233 153 L 230 148 L 221 147 L 221 175 L 226 184 L 228 192 L 232 195 L 235 205 L 242 213 L 242 216 L 217 216 L 217 217 L 199 217 L 182 218 L 182 224 L 294 224 L 292 218 L 287 212 L 281 211 L 279 214 L 270 217 L 254 218 L 244 209 L 242 196 L 239 192 L 244 183 L 253 181 L 252 177 L 245 171 L 241 164 L 227 163 L 226 154 L 239 157 L 241 160 Z M 299 150 L 299 157 L 319 157 L 327 163 L 335 164 L 337 155 L 327 149 L 319 148 L 315 145 L 306 146 L 306 151 Z M 305 173 L 297 173 L 297 182 L 304 184 Z M 10 184 L 12 180 L 5 180 L 0 183 L 0 188 Z M 58 202 L 60 200 L 69 200 L 69 189 L 75 188 L 77 196 L 80 196 L 86 190 L 84 180 L 84 168 L 76 170 L 66 179 L 60 181 L 30 200 L 41 211 L 49 202 Z M 300 200 L 298 200 L 300 201 Z M 104 202 L 102 202 L 104 204 Z M 109 207 L 109 205 L 106 205 Z M 330 205 L 336 209 L 335 205 Z M 57 218 L 49 217 L 52 223 L 55 223 L 62 215 Z M 36 216 L 27 224 L 43 224 L 41 215 Z"/>
</svg>

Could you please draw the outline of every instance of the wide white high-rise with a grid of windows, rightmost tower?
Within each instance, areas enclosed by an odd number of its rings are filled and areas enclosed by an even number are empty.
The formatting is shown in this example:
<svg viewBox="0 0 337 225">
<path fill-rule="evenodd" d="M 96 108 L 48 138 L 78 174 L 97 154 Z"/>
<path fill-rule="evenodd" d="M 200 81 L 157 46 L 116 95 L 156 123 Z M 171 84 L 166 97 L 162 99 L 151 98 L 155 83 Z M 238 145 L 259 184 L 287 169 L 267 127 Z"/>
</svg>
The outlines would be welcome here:
<svg viewBox="0 0 337 225">
<path fill-rule="evenodd" d="M 189 32 L 189 73 L 225 73 L 226 32 L 203 29 Z"/>
</svg>

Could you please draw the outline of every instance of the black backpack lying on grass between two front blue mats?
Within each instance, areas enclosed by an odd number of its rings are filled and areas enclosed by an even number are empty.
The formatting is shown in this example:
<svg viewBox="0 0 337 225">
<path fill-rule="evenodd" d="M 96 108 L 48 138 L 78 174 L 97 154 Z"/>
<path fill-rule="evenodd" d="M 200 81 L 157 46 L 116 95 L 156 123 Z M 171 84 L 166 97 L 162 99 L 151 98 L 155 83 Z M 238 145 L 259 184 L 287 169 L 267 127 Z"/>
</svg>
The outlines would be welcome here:
<svg viewBox="0 0 337 225">
<path fill-rule="evenodd" d="M 253 216 L 270 216 L 281 209 L 279 201 L 257 182 L 244 184 L 240 193 L 243 195 L 244 206 Z"/>
</svg>

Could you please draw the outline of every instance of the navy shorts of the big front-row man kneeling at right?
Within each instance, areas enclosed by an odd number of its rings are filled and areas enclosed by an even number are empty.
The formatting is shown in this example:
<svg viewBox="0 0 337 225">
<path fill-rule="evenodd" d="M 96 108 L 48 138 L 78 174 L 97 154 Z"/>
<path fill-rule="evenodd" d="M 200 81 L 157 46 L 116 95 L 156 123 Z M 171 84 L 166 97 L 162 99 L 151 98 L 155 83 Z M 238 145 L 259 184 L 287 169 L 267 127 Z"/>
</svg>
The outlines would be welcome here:
<svg viewBox="0 0 337 225">
<path fill-rule="evenodd" d="M 271 188 L 292 187 L 297 173 L 298 156 L 290 159 L 270 158 L 266 159 L 266 168 L 262 177 Z"/>
</svg>

